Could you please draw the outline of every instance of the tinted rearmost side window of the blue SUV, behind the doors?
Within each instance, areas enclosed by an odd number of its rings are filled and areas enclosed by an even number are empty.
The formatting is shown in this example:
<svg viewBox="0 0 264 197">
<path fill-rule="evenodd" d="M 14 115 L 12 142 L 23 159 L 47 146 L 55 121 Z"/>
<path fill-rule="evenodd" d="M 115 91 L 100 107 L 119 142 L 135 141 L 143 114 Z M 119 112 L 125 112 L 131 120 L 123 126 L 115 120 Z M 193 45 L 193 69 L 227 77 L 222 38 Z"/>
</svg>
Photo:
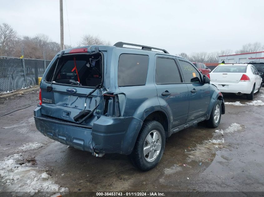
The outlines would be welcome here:
<svg viewBox="0 0 264 197">
<path fill-rule="evenodd" d="M 118 62 L 118 86 L 145 85 L 148 60 L 147 55 L 121 54 Z"/>
</svg>

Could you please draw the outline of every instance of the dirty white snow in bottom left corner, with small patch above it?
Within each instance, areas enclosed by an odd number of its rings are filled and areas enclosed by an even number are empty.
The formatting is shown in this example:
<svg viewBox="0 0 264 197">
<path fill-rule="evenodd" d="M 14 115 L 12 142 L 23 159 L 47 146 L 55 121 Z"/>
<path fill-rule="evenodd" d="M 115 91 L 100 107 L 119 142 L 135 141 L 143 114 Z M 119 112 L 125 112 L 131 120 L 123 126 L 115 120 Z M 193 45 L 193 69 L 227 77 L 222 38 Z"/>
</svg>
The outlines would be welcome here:
<svg viewBox="0 0 264 197">
<path fill-rule="evenodd" d="M 18 150 L 33 150 L 42 147 L 40 143 L 27 143 Z M 30 196 L 36 192 L 67 192 L 68 188 L 54 183 L 45 169 L 34 167 L 23 158 L 22 153 L 13 154 L 0 161 L 0 191 L 8 191 L 13 196 Z M 20 164 L 19 164 L 20 162 Z"/>
</svg>

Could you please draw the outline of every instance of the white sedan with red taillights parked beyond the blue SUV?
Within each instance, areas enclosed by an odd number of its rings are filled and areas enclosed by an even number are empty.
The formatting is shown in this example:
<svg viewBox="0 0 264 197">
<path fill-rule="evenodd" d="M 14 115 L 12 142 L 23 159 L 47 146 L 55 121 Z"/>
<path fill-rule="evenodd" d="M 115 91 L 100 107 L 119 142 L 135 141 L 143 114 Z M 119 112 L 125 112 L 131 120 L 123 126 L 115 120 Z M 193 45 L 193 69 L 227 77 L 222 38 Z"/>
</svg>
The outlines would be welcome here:
<svg viewBox="0 0 264 197">
<path fill-rule="evenodd" d="M 247 94 L 247 99 L 253 100 L 254 93 L 262 87 L 262 78 L 259 76 L 262 74 L 251 64 L 223 64 L 207 77 L 221 92 Z"/>
</svg>

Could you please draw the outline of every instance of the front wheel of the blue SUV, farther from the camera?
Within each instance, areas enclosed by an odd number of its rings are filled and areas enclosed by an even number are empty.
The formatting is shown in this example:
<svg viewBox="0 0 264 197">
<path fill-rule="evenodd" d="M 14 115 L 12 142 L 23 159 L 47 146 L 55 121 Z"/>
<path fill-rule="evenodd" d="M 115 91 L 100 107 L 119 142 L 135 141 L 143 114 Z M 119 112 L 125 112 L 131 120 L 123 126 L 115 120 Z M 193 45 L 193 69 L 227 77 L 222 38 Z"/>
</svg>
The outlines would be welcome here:
<svg viewBox="0 0 264 197">
<path fill-rule="evenodd" d="M 212 109 L 210 118 L 209 118 L 209 120 L 206 121 L 208 127 L 216 128 L 220 124 L 221 115 L 222 115 L 221 104 L 222 104 L 222 102 L 219 99 L 217 99 L 217 101 L 215 102 L 215 105 Z"/>
</svg>

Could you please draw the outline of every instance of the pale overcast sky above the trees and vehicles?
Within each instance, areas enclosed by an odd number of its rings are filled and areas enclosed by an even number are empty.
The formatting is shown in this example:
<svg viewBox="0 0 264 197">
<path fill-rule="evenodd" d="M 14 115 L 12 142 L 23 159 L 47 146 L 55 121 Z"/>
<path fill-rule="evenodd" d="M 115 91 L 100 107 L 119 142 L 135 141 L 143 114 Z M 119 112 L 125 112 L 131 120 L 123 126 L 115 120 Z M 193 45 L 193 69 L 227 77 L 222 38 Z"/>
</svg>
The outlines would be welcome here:
<svg viewBox="0 0 264 197">
<path fill-rule="evenodd" d="M 60 42 L 59 0 L 1 2 L 1 24 L 8 23 L 19 35 L 43 33 Z M 70 30 L 73 46 L 84 34 L 112 44 L 123 41 L 163 48 L 170 54 L 264 43 L 263 0 L 63 0 L 63 8 L 64 44 L 70 44 Z"/>
</svg>

